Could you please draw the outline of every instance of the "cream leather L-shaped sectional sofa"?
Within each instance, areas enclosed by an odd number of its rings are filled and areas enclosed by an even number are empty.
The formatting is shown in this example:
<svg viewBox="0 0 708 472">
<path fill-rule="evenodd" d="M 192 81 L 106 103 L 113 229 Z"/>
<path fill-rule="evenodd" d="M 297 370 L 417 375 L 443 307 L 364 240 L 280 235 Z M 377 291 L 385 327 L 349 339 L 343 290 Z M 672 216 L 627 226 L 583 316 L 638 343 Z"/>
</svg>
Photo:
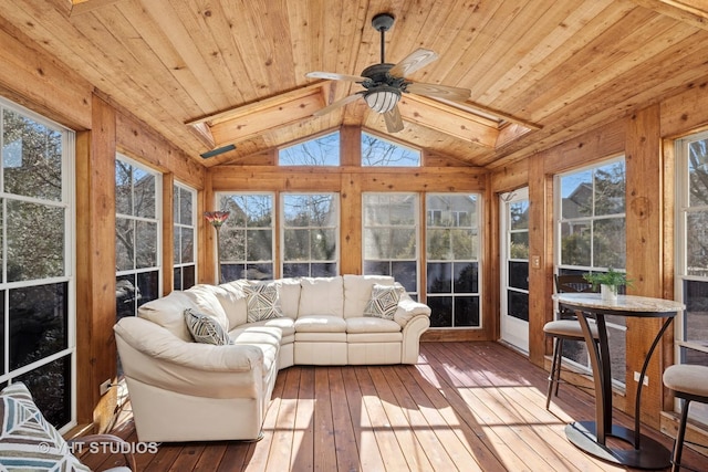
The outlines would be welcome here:
<svg viewBox="0 0 708 472">
<path fill-rule="evenodd" d="M 148 302 L 114 326 L 138 439 L 256 440 L 278 370 L 415 364 L 429 315 L 375 275 L 196 285 Z M 228 344 L 208 344 L 215 332 Z"/>
</svg>

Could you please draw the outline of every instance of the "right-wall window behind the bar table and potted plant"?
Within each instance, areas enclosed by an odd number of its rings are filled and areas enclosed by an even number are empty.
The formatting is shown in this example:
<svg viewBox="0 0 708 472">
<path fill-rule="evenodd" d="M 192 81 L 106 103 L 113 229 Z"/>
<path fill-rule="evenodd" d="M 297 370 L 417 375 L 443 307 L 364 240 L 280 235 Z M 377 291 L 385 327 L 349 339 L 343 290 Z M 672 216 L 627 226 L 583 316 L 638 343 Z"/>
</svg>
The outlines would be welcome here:
<svg viewBox="0 0 708 472">
<path fill-rule="evenodd" d="M 559 274 L 623 271 L 626 264 L 624 158 L 555 179 L 556 271 Z M 625 323 L 607 316 L 612 376 L 625 384 Z M 568 359 L 590 369 L 584 342 L 563 345 Z"/>
</svg>

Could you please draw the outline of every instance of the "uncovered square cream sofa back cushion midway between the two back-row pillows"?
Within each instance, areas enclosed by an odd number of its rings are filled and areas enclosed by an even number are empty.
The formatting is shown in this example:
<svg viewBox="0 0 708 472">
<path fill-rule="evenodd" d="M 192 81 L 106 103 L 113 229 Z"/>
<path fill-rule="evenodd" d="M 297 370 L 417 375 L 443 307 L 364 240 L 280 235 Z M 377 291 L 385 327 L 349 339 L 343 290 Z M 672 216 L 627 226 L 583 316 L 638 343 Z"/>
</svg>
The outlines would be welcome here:
<svg viewBox="0 0 708 472">
<path fill-rule="evenodd" d="M 302 277 L 298 317 L 329 315 L 344 317 L 344 290 L 342 276 Z"/>
</svg>

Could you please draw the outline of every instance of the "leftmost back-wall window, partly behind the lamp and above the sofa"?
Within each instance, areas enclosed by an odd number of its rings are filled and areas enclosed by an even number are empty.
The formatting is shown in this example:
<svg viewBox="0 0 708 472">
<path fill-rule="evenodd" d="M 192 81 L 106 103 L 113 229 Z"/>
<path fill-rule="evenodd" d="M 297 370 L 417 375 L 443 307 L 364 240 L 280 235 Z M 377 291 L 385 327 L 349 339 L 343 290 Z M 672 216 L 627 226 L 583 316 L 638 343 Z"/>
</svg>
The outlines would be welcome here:
<svg viewBox="0 0 708 472">
<path fill-rule="evenodd" d="M 273 279 L 273 193 L 230 193 L 218 199 L 219 208 L 230 212 L 220 230 L 221 277 L 227 282 Z"/>
</svg>

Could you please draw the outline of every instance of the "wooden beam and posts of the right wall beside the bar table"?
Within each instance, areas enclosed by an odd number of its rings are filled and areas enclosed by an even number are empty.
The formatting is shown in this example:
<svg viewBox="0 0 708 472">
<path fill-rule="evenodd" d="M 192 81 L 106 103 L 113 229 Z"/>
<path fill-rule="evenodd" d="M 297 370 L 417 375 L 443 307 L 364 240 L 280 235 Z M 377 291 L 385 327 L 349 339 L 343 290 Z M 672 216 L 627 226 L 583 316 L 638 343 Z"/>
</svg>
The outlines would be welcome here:
<svg viewBox="0 0 708 472">
<path fill-rule="evenodd" d="M 539 255 L 541 266 L 529 270 L 530 333 L 529 358 L 548 368 L 551 342 L 543 324 L 553 316 L 553 176 L 597 164 L 617 155 L 626 158 L 626 269 L 634 280 L 629 293 L 674 296 L 674 160 L 673 138 L 708 128 L 706 84 L 637 111 L 626 118 L 605 124 L 580 138 L 569 140 L 523 161 L 503 167 L 491 178 L 491 191 L 499 195 L 529 187 L 531 201 L 530 254 Z M 492 203 L 493 204 L 493 203 Z M 492 234 L 499 229 L 492 228 Z M 490 238 L 498 244 L 498 237 Z M 498 307 L 497 307 L 498 310 Z M 498 313 L 494 316 L 499 318 Z M 615 406 L 634 409 L 634 371 L 642 368 L 660 319 L 627 319 L 626 394 L 615 395 Z M 669 329 L 649 365 L 649 386 L 642 397 L 642 421 L 659 427 L 663 410 L 671 410 L 671 397 L 663 388 L 662 373 L 673 363 L 673 333 Z M 673 417 L 668 416 L 671 418 Z M 662 423 L 665 429 L 674 428 Z"/>
</svg>

